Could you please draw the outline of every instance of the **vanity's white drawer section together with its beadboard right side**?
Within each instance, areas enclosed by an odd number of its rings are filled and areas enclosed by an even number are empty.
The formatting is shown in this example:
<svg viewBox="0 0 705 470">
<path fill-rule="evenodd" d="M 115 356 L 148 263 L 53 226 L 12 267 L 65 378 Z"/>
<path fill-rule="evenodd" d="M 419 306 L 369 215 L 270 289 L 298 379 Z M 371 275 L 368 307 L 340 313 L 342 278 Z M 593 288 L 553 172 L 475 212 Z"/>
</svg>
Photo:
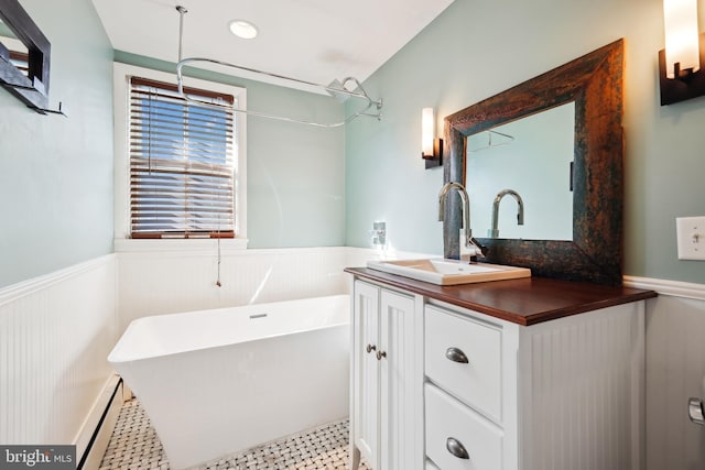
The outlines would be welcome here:
<svg viewBox="0 0 705 470">
<path fill-rule="evenodd" d="M 425 451 L 443 470 L 642 468 L 643 302 L 532 326 L 425 306 Z"/>
</svg>

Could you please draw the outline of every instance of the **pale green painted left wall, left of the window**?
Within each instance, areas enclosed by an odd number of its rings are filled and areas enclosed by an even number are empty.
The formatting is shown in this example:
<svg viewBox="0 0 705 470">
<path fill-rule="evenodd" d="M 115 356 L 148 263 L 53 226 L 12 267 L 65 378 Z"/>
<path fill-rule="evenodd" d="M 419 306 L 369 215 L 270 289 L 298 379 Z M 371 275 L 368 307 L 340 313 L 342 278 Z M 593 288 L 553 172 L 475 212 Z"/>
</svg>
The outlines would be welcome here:
<svg viewBox="0 0 705 470">
<path fill-rule="evenodd" d="M 112 47 L 89 0 L 20 3 L 68 119 L 0 88 L 0 287 L 112 251 Z"/>
</svg>

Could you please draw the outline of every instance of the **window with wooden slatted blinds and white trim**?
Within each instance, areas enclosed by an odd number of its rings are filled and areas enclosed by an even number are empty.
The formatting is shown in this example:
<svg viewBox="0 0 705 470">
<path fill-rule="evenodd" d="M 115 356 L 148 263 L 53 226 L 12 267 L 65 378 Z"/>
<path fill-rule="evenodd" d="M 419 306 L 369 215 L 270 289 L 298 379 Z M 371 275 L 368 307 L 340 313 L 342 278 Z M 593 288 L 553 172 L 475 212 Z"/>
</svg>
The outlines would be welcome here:
<svg viewBox="0 0 705 470">
<path fill-rule="evenodd" d="M 207 74 L 204 72 L 204 74 Z M 132 98 L 132 78 L 142 78 L 145 81 L 145 85 L 140 85 L 144 89 L 141 91 L 142 98 L 134 97 L 137 101 L 133 103 Z M 149 84 L 149 85 L 147 85 Z M 189 103 L 182 100 L 176 94 L 176 76 L 174 73 L 160 72 L 144 67 L 138 67 L 134 65 L 122 64 L 122 63 L 113 63 L 113 109 L 115 109 L 115 250 L 117 252 L 143 252 L 143 251 L 188 251 L 188 252 L 212 252 L 215 247 L 215 238 L 218 237 L 219 244 L 223 245 L 223 249 L 230 250 L 243 250 L 247 249 L 247 117 L 241 112 L 236 112 L 232 114 L 227 114 L 229 111 L 229 106 L 215 106 L 215 107 L 203 107 L 197 103 Z M 184 87 L 191 94 L 195 94 L 198 96 L 198 99 L 208 99 L 218 102 L 228 102 L 228 100 L 232 100 L 235 107 L 238 108 L 247 108 L 247 90 L 245 88 L 227 85 L 217 81 L 210 81 L 206 79 L 197 79 L 193 77 L 184 77 Z M 150 91 L 152 88 L 151 99 L 152 105 L 154 105 L 154 100 L 164 100 L 163 103 L 166 109 L 173 111 L 180 110 L 183 114 L 178 120 L 172 119 L 172 116 L 164 117 L 164 119 L 160 118 L 161 121 L 170 121 L 169 124 L 165 122 L 161 122 L 161 124 L 166 125 L 169 129 L 164 129 L 163 131 L 158 131 L 156 125 L 159 122 L 155 122 L 156 114 L 153 112 L 149 112 L 149 100 L 150 100 Z M 138 105 L 141 107 L 142 105 L 148 106 L 145 110 L 140 113 L 137 112 Z M 205 110 L 205 111 L 204 111 Z M 147 111 L 147 112 L 145 112 Z M 206 112 L 206 114 L 212 113 L 213 116 L 204 117 L 200 119 L 203 124 L 207 125 L 196 125 L 196 119 L 194 113 L 196 112 Z M 151 124 L 149 123 L 151 117 Z M 198 142 L 197 139 L 193 139 L 194 135 L 197 134 L 196 131 L 205 130 L 209 128 L 213 123 L 214 127 L 217 127 L 216 123 L 218 120 L 225 121 L 230 119 L 231 125 L 229 130 L 231 131 L 230 135 L 230 154 L 226 154 L 225 157 L 214 157 L 210 160 L 215 160 L 215 163 L 221 164 L 227 162 L 231 165 L 231 168 L 226 173 L 231 177 L 231 183 L 228 185 L 229 188 L 232 189 L 232 200 L 230 204 L 231 208 L 228 209 L 227 214 L 225 212 L 213 212 L 208 215 L 205 209 L 203 201 L 198 201 L 198 197 L 210 199 L 215 194 L 209 190 L 203 190 L 202 195 L 196 194 L 196 197 L 193 197 L 193 193 L 186 192 L 186 189 L 191 190 L 191 183 L 187 184 L 187 174 L 189 178 L 200 178 L 203 181 L 203 176 L 198 176 L 197 174 L 193 174 L 194 170 L 203 170 L 204 162 L 198 162 L 196 160 L 193 163 L 197 163 L 196 165 L 188 165 L 188 160 L 184 159 L 183 152 L 181 154 L 171 153 L 171 157 L 167 157 L 163 154 L 159 154 L 156 152 L 158 147 L 155 145 L 155 138 L 162 139 L 166 135 L 161 135 L 161 133 L 169 134 L 170 144 L 166 145 L 164 142 L 159 142 L 161 146 L 166 146 L 170 151 L 174 151 L 174 147 L 178 149 L 188 149 L 188 146 L 184 146 L 184 144 L 191 144 L 193 142 Z M 173 122 L 171 122 L 173 121 Z M 148 124 L 151 127 L 148 128 Z M 189 124 L 189 125 L 188 125 Z M 150 129 L 151 132 L 147 130 Z M 177 133 L 176 129 L 180 129 Z M 220 127 L 223 132 L 227 132 L 226 129 Z M 133 146 L 132 131 L 137 133 L 143 133 L 143 139 L 147 141 L 147 147 L 137 145 Z M 150 135 L 152 135 L 151 141 L 151 153 L 150 153 Z M 186 135 L 186 136 L 184 136 Z M 227 139 L 227 138 L 226 138 Z M 213 145 L 217 149 L 223 149 L 224 140 L 216 140 L 216 142 L 220 143 L 208 143 L 208 145 Z M 180 146 L 181 145 L 181 146 Z M 202 147 L 206 145 L 202 142 Z M 227 147 L 227 144 L 226 144 Z M 147 151 L 144 149 L 148 149 Z M 164 151 L 165 149 L 161 149 L 160 151 Z M 142 156 L 138 156 L 138 152 L 142 153 Z M 209 155 L 212 155 L 210 153 Z M 191 156 L 191 155 L 186 155 Z M 161 177 L 164 179 L 171 178 L 171 183 L 175 183 L 176 181 L 181 181 L 181 185 L 173 186 L 172 193 L 169 193 L 170 198 L 162 197 L 158 199 L 154 197 L 158 192 L 153 187 L 153 197 L 154 203 L 159 200 L 160 205 L 163 206 L 162 203 L 166 203 L 170 200 L 171 207 L 165 209 L 165 207 L 159 207 L 161 214 L 159 215 L 159 221 L 164 222 L 169 220 L 169 223 L 162 225 L 156 228 L 156 225 L 153 225 L 148 230 L 138 231 L 138 223 L 133 223 L 133 197 L 137 197 L 138 194 L 133 194 L 133 189 L 137 193 L 145 190 L 144 187 L 133 188 L 133 176 L 137 173 L 133 173 L 132 167 L 132 159 L 142 160 L 143 168 L 147 168 L 145 176 L 149 178 L 150 176 L 154 177 L 158 173 L 161 173 Z M 208 160 L 208 159 L 206 159 Z M 145 163 L 144 163 L 145 162 Z M 174 164 L 178 163 L 180 168 L 177 170 L 174 165 L 172 166 L 171 173 L 165 173 L 165 168 L 158 168 L 156 164 Z M 150 175 L 151 168 L 151 175 Z M 134 168 L 138 170 L 137 167 Z M 213 168 L 210 168 L 213 170 Z M 181 172 L 181 173 L 178 173 Z M 181 178 L 181 179 L 180 179 Z M 200 183 L 198 181 L 198 183 Z M 149 186 L 149 185 L 148 185 Z M 152 186 L 154 183 L 152 182 Z M 178 189 L 177 189 L 178 188 Z M 177 205 L 174 203 L 178 199 L 177 193 L 181 193 L 181 196 L 189 195 L 187 198 L 183 197 L 181 200 L 184 201 L 178 209 L 176 209 Z M 149 200 L 149 195 L 148 199 Z M 186 208 L 185 203 L 188 201 L 189 206 Z M 197 204 L 198 203 L 198 204 Z M 223 203 L 223 201 L 221 201 Z M 199 205 L 200 204 L 200 205 Z M 181 205 L 181 203 L 178 203 Z M 149 207 L 149 206 L 148 206 Z M 145 209 L 147 207 L 142 207 L 141 209 Z M 183 209 L 183 210 L 182 210 Z M 187 209 L 187 210 L 186 210 Z M 197 210 L 198 209 L 198 210 Z M 174 218 L 173 215 L 166 215 L 166 212 L 172 211 L 175 212 L 178 217 Z M 202 214 L 200 218 L 197 214 Z M 147 215 L 147 211 L 143 211 L 142 215 Z M 151 212 L 155 215 L 156 212 Z M 204 221 L 203 216 L 213 216 L 215 214 L 215 225 L 212 223 L 209 227 L 204 227 L 203 225 L 191 226 L 191 227 L 177 227 L 174 221 L 185 222 L 187 215 L 196 215 L 191 217 L 193 220 L 197 220 L 199 222 Z M 180 219 L 181 220 L 177 220 Z M 229 220 L 228 220 L 229 219 Z M 214 218 L 212 217 L 212 222 Z M 228 228 L 226 223 L 229 223 Z M 166 227 L 172 225 L 172 227 Z M 142 225 L 142 229 L 147 228 L 145 225 Z M 134 230 L 134 236 L 133 236 Z M 232 238 L 223 238 L 223 237 L 232 237 Z"/>
</svg>

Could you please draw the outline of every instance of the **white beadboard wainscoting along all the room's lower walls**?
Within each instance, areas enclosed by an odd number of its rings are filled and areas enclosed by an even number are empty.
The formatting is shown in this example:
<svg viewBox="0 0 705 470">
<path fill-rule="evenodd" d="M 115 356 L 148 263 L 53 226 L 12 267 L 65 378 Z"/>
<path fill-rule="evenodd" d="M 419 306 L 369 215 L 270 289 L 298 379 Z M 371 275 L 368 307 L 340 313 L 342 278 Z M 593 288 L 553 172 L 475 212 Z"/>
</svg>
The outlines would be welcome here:
<svg viewBox="0 0 705 470">
<path fill-rule="evenodd" d="M 379 258 L 414 254 L 345 247 L 226 248 L 223 285 L 217 287 L 215 245 L 195 252 L 140 249 L 4 287 L 0 289 L 0 442 L 73 442 L 112 373 L 106 357 L 134 318 L 346 293 L 343 269 Z M 705 285 L 629 276 L 625 284 L 660 295 L 646 308 L 646 468 L 703 469 L 705 427 L 688 420 L 687 398 L 704 393 Z M 605 334 L 611 337 L 621 329 L 609 325 L 610 332 Z M 551 340 L 546 360 L 561 357 L 560 346 Z M 538 351 L 544 347 L 542 342 Z"/>
</svg>

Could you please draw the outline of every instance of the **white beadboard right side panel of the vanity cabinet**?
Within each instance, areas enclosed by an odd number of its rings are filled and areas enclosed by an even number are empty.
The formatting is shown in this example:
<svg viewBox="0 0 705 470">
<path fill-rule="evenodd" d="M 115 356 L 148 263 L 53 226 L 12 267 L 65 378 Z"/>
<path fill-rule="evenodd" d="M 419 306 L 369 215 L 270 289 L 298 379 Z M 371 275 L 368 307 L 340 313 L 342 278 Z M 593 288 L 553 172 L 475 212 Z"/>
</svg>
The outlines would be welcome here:
<svg viewBox="0 0 705 470">
<path fill-rule="evenodd" d="M 531 327 L 525 468 L 642 469 L 643 318 L 633 303 Z"/>
</svg>

